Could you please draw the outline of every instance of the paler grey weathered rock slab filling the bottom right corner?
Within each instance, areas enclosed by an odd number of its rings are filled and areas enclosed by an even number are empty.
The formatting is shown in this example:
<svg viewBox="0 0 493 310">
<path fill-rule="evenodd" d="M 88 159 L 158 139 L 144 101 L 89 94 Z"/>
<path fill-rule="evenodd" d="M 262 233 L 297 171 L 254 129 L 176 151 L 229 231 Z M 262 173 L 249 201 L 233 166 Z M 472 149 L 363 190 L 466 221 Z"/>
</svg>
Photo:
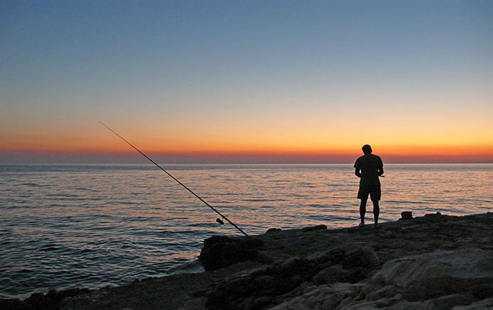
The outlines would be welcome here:
<svg viewBox="0 0 493 310">
<path fill-rule="evenodd" d="M 332 274 L 345 277 L 346 270 L 327 267 L 313 277 L 314 287 L 272 309 L 488 309 L 493 305 L 490 254 L 470 248 L 411 255 L 386 262 L 372 278 L 356 284 L 330 283 Z"/>
</svg>

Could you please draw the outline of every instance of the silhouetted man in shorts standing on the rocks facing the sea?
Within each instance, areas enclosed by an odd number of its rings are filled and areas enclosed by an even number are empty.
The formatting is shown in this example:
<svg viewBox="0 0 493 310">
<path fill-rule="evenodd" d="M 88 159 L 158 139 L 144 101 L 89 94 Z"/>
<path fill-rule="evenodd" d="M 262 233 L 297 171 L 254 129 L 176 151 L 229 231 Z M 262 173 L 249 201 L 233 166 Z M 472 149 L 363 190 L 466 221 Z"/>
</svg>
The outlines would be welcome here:
<svg viewBox="0 0 493 310">
<path fill-rule="evenodd" d="M 359 157 L 354 163 L 354 174 L 359 177 L 358 199 L 361 199 L 361 204 L 359 204 L 361 223 L 359 223 L 359 227 L 364 226 L 364 214 L 367 213 L 368 195 L 373 202 L 373 216 L 375 227 L 377 227 L 379 225 L 379 200 L 381 196 L 379 177 L 384 175 L 384 164 L 379 156 L 372 154 L 372 147 L 370 145 L 363 145 L 362 150 L 364 155 Z"/>
</svg>

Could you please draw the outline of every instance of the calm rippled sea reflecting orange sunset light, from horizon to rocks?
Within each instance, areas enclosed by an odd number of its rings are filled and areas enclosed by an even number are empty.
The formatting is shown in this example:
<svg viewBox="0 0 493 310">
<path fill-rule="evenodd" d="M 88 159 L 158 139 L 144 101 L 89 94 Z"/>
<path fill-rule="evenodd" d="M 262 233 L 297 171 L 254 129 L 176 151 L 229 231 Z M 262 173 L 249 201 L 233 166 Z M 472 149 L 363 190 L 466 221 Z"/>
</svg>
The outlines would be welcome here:
<svg viewBox="0 0 493 310">
<path fill-rule="evenodd" d="M 162 167 L 248 235 L 359 223 L 351 163 Z M 493 211 L 493 164 L 384 169 L 380 222 Z M 242 236 L 218 217 L 153 165 L 0 165 L 0 298 L 200 272 L 205 238 Z"/>
</svg>

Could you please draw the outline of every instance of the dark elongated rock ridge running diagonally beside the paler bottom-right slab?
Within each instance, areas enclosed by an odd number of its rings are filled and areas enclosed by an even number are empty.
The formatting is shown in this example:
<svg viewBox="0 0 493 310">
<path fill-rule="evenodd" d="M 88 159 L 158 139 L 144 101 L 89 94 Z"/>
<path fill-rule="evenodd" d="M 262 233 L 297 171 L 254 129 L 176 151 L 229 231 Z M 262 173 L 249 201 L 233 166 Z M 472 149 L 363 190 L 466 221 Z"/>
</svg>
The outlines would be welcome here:
<svg viewBox="0 0 493 310">
<path fill-rule="evenodd" d="M 331 264 L 334 266 L 322 270 L 324 266 Z M 303 282 L 358 282 L 367 277 L 369 270 L 376 265 L 378 258 L 369 247 L 340 247 L 310 258 L 296 256 L 274 262 L 250 275 L 227 279 L 218 284 L 207 293 L 207 306 L 215 309 L 252 309 L 245 303 L 264 300 L 266 296 L 273 300 L 274 297 L 299 287 Z M 253 299 L 245 299 L 245 296 Z"/>
</svg>

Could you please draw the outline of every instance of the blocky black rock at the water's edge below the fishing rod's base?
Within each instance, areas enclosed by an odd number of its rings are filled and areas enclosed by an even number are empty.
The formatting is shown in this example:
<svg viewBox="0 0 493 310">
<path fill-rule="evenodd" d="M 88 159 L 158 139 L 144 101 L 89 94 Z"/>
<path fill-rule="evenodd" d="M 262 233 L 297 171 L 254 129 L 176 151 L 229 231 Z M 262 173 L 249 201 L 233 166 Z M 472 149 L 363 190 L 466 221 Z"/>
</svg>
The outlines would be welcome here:
<svg viewBox="0 0 493 310">
<path fill-rule="evenodd" d="M 254 238 L 212 236 L 204 240 L 199 260 L 205 270 L 217 270 L 245 260 L 261 260 L 257 249 L 262 245 L 261 240 Z"/>
</svg>

